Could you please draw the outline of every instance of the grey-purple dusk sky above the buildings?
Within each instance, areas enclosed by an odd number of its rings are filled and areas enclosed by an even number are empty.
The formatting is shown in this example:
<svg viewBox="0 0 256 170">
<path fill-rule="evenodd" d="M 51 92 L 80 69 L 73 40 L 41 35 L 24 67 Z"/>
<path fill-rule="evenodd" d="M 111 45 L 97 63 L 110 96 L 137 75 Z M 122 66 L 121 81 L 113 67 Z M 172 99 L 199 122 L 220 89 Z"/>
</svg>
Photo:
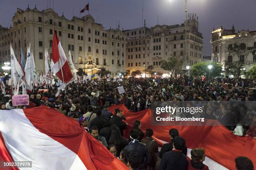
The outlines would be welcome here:
<svg viewBox="0 0 256 170">
<path fill-rule="evenodd" d="M 175 25 L 184 23 L 185 0 L 144 0 L 144 19 L 146 26 Z M 211 55 L 210 39 L 214 27 L 231 29 L 234 24 L 237 30 L 256 30 L 256 0 L 187 0 L 188 13 L 196 13 L 199 20 L 199 30 L 204 37 L 204 54 Z M 49 7 L 50 0 L 48 0 Z M 54 10 L 59 15 L 71 19 L 79 17 L 79 7 L 82 9 L 88 0 L 54 0 Z M 10 27 L 16 8 L 25 10 L 27 7 L 38 10 L 47 8 L 47 0 L 0 0 L 0 25 Z M 51 0 L 53 8 L 53 0 Z M 81 14 L 86 15 L 88 11 Z M 116 20 L 120 20 L 120 28 L 126 30 L 143 25 L 142 0 L 90 0 L 90 14 L 105 29 L 115 28 Z"/>
</svg>

